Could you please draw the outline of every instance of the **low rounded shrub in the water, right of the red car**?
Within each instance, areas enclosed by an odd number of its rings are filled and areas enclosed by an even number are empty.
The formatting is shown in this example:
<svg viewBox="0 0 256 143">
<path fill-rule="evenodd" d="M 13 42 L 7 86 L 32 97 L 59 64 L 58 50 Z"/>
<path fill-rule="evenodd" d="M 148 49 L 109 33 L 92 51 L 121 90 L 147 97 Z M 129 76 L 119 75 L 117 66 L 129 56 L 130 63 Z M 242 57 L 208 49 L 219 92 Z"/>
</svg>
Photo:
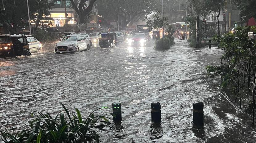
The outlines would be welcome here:
<svg viewBox="0 0 256 143">
<path fill-rule="evenodd" d="M 169 49 L 173 44 L 174 44 L 174 37 L 165 37 L 155 42 L 154 49 L 159 49 L 159 50 Z"/>
</svg>

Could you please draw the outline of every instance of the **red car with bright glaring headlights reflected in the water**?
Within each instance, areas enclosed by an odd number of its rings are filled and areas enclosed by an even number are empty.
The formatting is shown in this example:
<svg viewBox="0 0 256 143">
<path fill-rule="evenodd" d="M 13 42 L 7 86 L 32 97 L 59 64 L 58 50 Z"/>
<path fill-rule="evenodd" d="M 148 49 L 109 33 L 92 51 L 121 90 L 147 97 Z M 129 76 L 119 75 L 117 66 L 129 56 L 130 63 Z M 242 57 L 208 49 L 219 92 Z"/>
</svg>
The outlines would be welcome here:
<svg viewBox="0 0 256 143">
<path fill-rule="evenodd" d="M 134 34 L 130 40 L 130 46 L 144 46 L 147 43 L 147 36 L 144 33 Z"/>
</svg>

